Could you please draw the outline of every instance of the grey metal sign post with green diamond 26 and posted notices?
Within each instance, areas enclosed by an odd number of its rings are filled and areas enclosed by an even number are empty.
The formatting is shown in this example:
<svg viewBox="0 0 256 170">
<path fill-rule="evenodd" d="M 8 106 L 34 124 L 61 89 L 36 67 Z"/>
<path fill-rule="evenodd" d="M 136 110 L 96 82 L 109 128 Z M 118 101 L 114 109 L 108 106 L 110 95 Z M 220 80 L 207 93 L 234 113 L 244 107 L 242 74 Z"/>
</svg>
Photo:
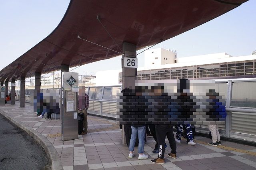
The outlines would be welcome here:
<svg viewBox="0 0 256 170">
<path fill-rule="evenodd" d="M 78 138 L 78 73 L 62 72 L 62 82 L 61 138 L 73 140 Z"/>
</svg>

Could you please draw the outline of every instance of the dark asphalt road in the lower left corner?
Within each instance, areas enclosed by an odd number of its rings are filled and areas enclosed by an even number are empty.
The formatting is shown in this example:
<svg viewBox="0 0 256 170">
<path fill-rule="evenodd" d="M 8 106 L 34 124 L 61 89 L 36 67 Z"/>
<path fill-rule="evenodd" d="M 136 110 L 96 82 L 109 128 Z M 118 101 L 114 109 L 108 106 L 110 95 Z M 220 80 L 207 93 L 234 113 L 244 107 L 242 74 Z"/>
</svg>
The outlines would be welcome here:
<svg viewBox="0 0 256 170">
<path fill-rule="evenodd" d="M 0 114 L 0 170 L 49 170 L 40 144 Z"/>
</svg>

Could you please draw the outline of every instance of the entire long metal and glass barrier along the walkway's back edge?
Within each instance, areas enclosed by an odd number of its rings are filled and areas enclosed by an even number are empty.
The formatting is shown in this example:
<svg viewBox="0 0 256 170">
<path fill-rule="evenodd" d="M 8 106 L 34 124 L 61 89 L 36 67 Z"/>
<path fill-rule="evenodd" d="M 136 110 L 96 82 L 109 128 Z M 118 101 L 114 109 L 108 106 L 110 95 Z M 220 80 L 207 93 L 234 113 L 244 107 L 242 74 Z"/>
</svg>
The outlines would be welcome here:
<svg viewBox="0 0 256 170">
<path fill-rule="evenodd" d="M 219 126 L 222 136 L 256 141 L 255 87 L 256 80 L 216 80 L 216 92 L 226 93 L 226 124 Z M 120 85 L 86 87 L 90 97 L 88 113 L 116 117 L 116 94 L 120 91 Z M 30 102 L 30 95 L 26 95 L 26 101 Z M 209 132 L 206 125 L 195 126 L 198 132 Z"/>
</svg>

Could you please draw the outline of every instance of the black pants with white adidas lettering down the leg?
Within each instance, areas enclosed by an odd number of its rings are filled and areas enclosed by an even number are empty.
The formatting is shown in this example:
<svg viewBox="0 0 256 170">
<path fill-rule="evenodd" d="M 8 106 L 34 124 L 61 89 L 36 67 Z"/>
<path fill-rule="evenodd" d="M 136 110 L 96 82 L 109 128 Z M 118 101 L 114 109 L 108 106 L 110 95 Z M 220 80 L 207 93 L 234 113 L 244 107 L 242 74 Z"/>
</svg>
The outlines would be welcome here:
<svg viewBox="0 0 256 170">
<path fill-rule="evenodd" d="M 170 147 L 171 147 L 171 153 L 176 154 L 176 142 L 174 139 L 174 134 L 173 134 L 173 127 L 172 125 L 156 125 L 156 138 L 159 144 L 159 154 L 158 158 L 164 158 L 164 142 L 165 142 L 165 137 L 167 136 Z"/>
</svg>

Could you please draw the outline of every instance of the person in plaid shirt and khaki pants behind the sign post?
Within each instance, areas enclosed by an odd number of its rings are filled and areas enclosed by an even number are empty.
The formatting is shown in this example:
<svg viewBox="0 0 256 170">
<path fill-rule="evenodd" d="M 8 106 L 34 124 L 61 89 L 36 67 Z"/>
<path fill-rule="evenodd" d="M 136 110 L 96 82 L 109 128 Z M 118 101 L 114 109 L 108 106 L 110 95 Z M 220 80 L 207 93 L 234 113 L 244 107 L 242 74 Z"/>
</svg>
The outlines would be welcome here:
<svg viewBox="0 0 256 170">
<path fill-rule="evenodd" d="M 88 123 L 87 123 L 87 110 L 89 108 L 89 96 L 85 93 L 85 87 L 79 87 L 78 94 L 78 113 L 84 113 L 84 131 L 81 133 L 82 135 L 87 134 Z"/>
</svg>

